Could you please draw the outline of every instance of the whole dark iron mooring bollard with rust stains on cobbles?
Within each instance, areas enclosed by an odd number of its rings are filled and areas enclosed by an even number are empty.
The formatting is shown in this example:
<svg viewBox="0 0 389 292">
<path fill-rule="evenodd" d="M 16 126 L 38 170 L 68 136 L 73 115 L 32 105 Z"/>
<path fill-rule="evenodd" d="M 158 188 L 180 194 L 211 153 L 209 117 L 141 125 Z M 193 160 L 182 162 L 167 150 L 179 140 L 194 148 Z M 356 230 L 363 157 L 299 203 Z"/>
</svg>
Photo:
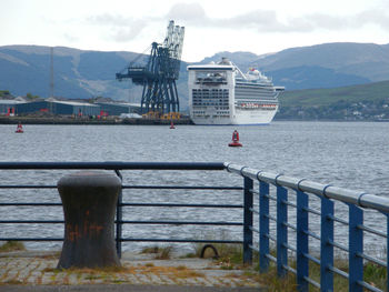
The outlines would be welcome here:
<svg viewBox="0 0 389 292">
<path fill-rule="evenodd" d="M 64 239 L 58 269 L 119 266 L 114 212 L 121 189 L 113 173 L 81 171 L 58 182 Z"/>
</svg>

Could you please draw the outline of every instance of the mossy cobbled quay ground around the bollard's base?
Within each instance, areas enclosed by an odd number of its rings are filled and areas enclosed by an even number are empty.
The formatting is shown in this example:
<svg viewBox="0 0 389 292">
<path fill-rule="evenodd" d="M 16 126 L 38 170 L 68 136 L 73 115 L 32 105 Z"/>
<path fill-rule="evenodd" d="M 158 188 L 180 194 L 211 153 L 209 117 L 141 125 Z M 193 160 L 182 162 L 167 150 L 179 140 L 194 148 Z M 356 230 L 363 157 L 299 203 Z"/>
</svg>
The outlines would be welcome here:
<svg viewBox="0 0 389 292">
<path fill-rule="evenodd" d="M 255 271 L 229 270 L 211 259 L 154 258 L 124 252 L 120 269 L 58 270 L 59 252 L 0 253 L 0 292 L 266 291 Z"/>
</svg>

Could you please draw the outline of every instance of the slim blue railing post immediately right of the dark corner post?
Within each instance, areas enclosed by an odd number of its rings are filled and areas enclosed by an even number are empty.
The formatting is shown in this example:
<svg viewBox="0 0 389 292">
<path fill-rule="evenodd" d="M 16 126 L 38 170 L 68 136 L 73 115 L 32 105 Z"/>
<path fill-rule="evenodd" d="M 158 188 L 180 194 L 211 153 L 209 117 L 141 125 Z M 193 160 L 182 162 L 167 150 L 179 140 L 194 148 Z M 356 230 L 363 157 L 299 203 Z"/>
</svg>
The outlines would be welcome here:
<svg viewBox="0 0 389 292">
<path fill-rule="evenodd" d="M 269 183 L 259 184 L 259 271 L 269 269 Z"/>
</svg>

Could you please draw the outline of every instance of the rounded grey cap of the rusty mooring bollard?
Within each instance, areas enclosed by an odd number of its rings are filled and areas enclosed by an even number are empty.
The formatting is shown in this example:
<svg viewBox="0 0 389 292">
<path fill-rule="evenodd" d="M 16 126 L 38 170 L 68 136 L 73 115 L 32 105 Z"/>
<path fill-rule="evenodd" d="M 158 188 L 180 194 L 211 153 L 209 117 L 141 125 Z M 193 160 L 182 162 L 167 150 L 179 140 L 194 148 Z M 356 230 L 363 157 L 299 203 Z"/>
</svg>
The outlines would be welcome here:
<svg viewBox="0 0 389 292">
<path fill-rule="evenodd" d="M 62 187 L 121 187 L 118 175 L 103 171 L 78 171 L 61 178 L 58 188 Z"/>
</svg>

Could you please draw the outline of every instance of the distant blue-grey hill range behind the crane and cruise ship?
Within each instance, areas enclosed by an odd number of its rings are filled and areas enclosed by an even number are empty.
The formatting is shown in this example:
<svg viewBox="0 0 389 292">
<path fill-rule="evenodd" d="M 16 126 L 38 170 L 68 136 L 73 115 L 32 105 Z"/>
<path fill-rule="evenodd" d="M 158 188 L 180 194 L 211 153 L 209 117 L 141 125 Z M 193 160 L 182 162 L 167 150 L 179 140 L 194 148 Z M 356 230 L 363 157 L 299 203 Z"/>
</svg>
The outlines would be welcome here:
<svg viewBox="0 0 389 292">
<path fill-rule="evenodd" d="M 184 48 L 183 48 L 184 49 Z M 138 53 L 83 51 L 56 47 L 53 57 L 54 95 L 68 99 L 106 97 L 139 102 L 141 88 L 132 82 L 118 82 L 114 74 L 126 68 Z M 146 62 L 148 56 L 141 56 Z M 336 88 L 387 80 L 389 46 L 373 43 L 325 43 L 291 48 L 277 53 L 257 56 L 251 52 L 219 52 L 200 63 L 232 60 L 246 71 L 259 68 L 276 85 L 287 90 Z M 177 82 L 180 107 L 188 107 L 187 68 L 181 63 Z M 39 46 L 0 47 L 0 90 L 13 95 L 48 98 L 50 92 L 50 48 Z"/>
</svg>

